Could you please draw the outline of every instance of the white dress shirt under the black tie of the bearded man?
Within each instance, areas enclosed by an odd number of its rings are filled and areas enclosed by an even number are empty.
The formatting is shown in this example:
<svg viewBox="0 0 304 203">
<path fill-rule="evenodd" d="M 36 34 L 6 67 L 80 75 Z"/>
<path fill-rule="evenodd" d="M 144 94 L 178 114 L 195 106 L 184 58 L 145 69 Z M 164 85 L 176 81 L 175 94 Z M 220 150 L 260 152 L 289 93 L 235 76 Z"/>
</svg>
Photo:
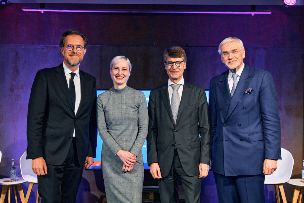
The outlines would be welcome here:
<svg viewBox="0 0 304 203">
<path fill-rule="evenodd" d="M 71 73 L 72 71 L 63 63 L 63 68 L 64 68 L 64 74 L 65 77 L 67 78 L 67 86 L 70 89 L 70 80 L 71 80 Z M 80 88 L 80 77 L 79 77 L 79 68 L 74 72 L 76 75 L 74 77 L 74 85 L 75 85 L 75 93 L 76 93 L 76 101 L 75 101 L 75 115 L 77 113 L 79 104 L 80 104 L 80 100 L 81 100 L 81 88 Z M 75 137 L 75 128 L 74 128 L 74 133 L 73 133 L 73 137 Z"/>
</svg>

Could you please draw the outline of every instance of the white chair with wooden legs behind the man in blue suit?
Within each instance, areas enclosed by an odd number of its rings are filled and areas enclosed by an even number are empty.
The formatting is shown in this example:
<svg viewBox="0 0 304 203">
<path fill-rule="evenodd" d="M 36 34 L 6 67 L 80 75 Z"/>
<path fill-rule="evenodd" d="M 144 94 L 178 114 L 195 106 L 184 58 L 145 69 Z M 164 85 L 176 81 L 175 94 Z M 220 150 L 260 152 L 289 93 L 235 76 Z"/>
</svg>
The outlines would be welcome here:
<svg viewBox="0 0 304 203">
<path fill-rule="evenodd" d="M 265 176 L 264 184 L 275 185 L 275 193 L 277 196 L 278 203 L 280 203 L 280 194 L 279 194 L 279 188 L 280 188 L 282 200 L 284 203 L 287 203 L 282 183 L 286 183 L 290 179 L 294 160 L 292 154 L 283 148 L 281 148 L 281 156 L 282 156 L 282 160 L 277 161 L 278 164 L 277 169 L 270 176 L 268 175 Z"/>
</svg>

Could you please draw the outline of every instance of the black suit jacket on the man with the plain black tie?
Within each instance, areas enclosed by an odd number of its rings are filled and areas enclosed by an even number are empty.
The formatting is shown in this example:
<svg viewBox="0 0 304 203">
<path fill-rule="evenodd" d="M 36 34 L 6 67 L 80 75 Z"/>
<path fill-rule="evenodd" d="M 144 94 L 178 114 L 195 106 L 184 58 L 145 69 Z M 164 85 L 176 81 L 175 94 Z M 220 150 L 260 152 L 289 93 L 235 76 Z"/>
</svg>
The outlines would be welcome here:
<svg viewBox="0 0 304 203">
<path fill-rule="evenodd" d="M 39 70 L 27 115 L 27 159 L 43 157 L 60 165 L 70 149 L 75 128 L 78 161 L 96 156 L 96 80 L 79 70 L 81 101 L 75 115 L 63 65 Z"/>
</svg>

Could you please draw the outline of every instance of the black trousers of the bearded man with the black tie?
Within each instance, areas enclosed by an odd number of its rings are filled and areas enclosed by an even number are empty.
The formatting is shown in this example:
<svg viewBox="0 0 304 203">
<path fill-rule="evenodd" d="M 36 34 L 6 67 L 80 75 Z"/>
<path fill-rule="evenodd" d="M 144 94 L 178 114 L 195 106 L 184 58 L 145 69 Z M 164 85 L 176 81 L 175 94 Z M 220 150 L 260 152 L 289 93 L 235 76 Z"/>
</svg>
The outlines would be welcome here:
<svg viewBox="0 0 304 203">
<path fill-rule="evenodd" d="M 47 164 L 47 174 L 38 176 L 38 193 L 41 203 L 75 203 L 83 166 L 78 162 L 76 140 L 73 138 L 64 163 Z"/>
</svg>

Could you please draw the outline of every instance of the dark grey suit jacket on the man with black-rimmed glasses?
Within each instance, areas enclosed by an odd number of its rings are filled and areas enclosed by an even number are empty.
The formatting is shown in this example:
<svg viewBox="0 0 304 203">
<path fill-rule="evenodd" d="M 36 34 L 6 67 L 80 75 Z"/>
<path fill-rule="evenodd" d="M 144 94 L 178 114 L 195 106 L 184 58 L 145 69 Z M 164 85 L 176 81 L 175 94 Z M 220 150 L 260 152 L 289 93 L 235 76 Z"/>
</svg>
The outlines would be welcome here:
<svg viewBox="0 0 304 203">
<path fill-rule="evenodd" d="M 161 175 L 168 175 L 174 156 L 173 136 L 186 174 L 199 175 L 199 163 L 210 165 L 208 104 L 204 88 L 184 83 L 176 125 L 171 112 L 168 84 L 150 92 L 148 111 L 149 166 L 157 162 Z"/>
</svg>

